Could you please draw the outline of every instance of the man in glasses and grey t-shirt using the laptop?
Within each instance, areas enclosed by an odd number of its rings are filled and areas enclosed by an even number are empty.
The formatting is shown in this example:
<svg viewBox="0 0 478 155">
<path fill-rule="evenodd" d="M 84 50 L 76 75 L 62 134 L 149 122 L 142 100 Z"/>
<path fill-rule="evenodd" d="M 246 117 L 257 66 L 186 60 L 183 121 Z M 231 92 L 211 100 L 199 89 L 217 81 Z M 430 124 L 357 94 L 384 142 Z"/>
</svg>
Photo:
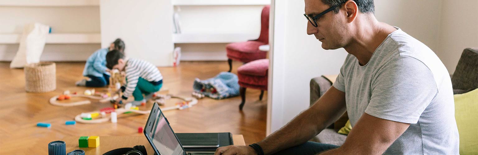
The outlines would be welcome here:
<svg viewBox="0 0 478 155">
<path fill-rule="evenodd" d="M 311 107 L 257 144 L 216 155 L 458 155 L 451 80 L 435 53 L 379 22 L 373 0 L 305 0 L 307 34 L 349 53 L 336 82 Z M 341 146 L 308 142 L 347 110 Z"/>
</svg>

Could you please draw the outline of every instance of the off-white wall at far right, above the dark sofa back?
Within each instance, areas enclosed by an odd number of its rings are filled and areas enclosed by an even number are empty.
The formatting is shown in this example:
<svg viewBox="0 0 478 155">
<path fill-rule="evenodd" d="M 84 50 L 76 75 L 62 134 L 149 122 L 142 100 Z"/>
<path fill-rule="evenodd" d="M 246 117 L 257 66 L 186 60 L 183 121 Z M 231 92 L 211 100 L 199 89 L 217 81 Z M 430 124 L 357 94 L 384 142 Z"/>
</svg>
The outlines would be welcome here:
<svg viewBox="0 0 478 155">
<path fill-rule="evenodd" d="M 478 48 L 478 0 L 442 0 L 442 6 L 440 46 L 435 53 L 453 74 L 463 49 Z"/>
</svg>

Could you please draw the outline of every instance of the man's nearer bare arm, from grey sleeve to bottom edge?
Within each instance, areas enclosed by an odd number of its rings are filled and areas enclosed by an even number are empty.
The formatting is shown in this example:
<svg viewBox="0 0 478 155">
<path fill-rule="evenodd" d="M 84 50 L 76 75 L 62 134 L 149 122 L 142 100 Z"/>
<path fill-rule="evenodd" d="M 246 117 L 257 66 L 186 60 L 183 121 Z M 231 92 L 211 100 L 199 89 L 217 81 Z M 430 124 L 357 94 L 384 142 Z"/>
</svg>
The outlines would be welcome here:
<svg viewBox="0 0 478 155">
<path fill-rule="evenodd" d="M 344 145 L 320 155 L 381 155 L 410 124 L 364 113 L 352 128 Z"/>
</svg>

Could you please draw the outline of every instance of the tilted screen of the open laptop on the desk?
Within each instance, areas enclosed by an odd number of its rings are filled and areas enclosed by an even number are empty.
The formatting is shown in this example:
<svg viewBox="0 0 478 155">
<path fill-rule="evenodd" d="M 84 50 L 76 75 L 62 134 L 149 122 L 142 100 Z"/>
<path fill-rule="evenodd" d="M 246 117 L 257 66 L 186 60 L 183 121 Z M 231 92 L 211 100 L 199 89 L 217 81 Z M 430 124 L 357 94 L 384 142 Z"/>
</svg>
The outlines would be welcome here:
<svg viewBox="0 0 478 155">
<path fill-rule="evenodd" d="M 166 122 L 163 113 L 158 110 L 156 114 L 153 117 L 156 120 L 150 134 L 154 147 L 160 155 L 185 155 L 183 147 L 179 144 L 171 126 Z"/>
</svg>

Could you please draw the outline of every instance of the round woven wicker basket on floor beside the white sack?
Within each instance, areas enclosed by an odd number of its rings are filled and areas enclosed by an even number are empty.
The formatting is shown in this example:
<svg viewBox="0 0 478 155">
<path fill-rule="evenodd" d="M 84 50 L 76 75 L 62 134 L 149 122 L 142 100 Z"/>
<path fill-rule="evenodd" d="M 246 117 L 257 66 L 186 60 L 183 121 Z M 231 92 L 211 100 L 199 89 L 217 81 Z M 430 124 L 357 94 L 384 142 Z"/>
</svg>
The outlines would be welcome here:
<svg viewBox="0 0 478 155">
<path fill-rule="evenodd" d="M 56 89 L 56 65 L 54 62 L 40 62 L 25 66 L 25 90 L 44 93 Z"/>
</svg>

